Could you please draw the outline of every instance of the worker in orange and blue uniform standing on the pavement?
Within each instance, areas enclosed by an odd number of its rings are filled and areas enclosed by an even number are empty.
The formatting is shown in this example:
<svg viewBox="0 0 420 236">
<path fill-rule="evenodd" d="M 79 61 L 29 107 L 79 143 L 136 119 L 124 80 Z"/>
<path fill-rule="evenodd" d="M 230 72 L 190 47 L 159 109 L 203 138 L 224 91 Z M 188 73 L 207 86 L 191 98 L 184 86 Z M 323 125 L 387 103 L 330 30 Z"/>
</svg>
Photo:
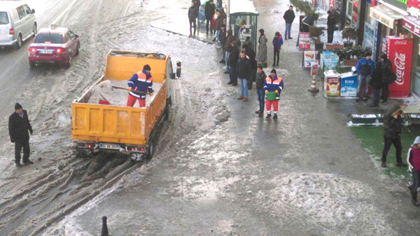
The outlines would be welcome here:
<svg viewBox="0 0 420 236">
<path fill-rule="evenodd" d="M 265 90 L 265 94 L 267 94 L 268 92 L 276 93 L 276 99 L 274 100 L 266 99 L 265 101 L 265 106 L 267 106 L 267 116 L 265 118 L 269 119 L 271 117 L 271 108 L 273 106 L 273 109 L 274 109 L 273 119 L 276 120 L 277 111 L 279 110 L 280 92 L 281 90 L 283 90 L 283 79 L 277 76 L 276 69 L 272 69 L 270 75 L 267 76 L 267 78 L 265 78 L 264 90 Z"/>
</svg>

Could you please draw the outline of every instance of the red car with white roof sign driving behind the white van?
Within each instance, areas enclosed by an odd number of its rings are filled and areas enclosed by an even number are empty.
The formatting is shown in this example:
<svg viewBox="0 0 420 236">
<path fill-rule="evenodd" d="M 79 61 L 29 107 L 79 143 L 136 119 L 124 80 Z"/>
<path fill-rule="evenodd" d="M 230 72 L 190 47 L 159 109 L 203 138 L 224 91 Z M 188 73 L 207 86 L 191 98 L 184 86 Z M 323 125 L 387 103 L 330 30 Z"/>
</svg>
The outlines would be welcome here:
<svg viewBox="0 0 420 236">
<path fill-rule="evenodd" d="M 50 28 L 40 29 L 34 43 L 29 46 L 29 65 L 35 67 L 39 63 L 58 63 L 69 68 L 79 48 L 77 34 L 67 28 L 51 25 Z"/>
</svg>

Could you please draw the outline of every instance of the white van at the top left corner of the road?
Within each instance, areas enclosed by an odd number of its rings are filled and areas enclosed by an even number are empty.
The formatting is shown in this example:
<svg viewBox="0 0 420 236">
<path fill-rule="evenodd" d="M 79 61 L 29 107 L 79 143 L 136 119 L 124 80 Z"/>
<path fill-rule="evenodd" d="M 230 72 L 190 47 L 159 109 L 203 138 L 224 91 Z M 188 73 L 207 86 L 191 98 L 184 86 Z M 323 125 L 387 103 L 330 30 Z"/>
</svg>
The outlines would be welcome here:
<svg viewBox="0 0 420 236">
<path fill-rule="evenodd" d="M 22 47 L 36 34 L 35 10 L 21 1 L 0 1 L 0 47 Z"/>
</svg>

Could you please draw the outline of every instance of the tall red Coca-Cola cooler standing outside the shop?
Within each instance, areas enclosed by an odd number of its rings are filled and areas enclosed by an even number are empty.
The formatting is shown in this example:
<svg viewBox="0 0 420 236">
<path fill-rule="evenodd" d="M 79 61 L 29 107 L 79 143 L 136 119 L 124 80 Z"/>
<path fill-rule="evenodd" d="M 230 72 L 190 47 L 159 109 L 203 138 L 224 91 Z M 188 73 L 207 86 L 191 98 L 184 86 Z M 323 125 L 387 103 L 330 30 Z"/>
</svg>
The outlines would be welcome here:
<svg viewBox="0 0 420 236">
<path fill-rule="evenodd" d="M 389 97 L 408 97 L 411 77 L 413 39 L 401 39 L 398 36 L 386 36 L 388 59 L 397 76 L 389 85 Z"/>
</svg>

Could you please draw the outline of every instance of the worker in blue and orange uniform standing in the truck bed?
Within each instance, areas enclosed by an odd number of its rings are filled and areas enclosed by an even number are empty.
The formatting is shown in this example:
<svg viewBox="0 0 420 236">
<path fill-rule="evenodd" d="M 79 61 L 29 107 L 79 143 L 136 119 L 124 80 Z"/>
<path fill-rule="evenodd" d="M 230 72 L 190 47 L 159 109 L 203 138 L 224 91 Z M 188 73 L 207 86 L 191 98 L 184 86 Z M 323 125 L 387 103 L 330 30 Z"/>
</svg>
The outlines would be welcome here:
<svg viewBox="0 0 420 236">
<path fill-rule="evenodd" d="M 151 75 L 151 66 L 146 64 L 142 71 L 137 72 L 128 81 L 127 106 L 134 106 L 136 100 L 139 100 L 139 106 L 146 106 L 146 94 L 153 96 L 153 78 Z"/>
</svg>

